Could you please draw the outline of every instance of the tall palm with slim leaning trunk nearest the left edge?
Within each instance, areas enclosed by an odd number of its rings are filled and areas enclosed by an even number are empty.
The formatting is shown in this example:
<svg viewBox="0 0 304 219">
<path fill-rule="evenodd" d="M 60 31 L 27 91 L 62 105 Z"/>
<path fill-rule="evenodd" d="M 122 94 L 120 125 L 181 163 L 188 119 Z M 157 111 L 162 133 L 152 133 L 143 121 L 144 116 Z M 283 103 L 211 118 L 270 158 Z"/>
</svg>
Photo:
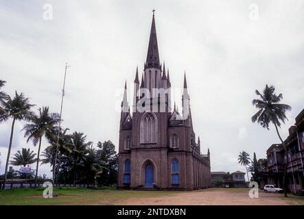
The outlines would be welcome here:
<svg viewBox="0 0 304 219">
<path fill-rule="evenodd" d="M 30 109 L 34 105 L 30 104 L 28 98 L 25 98 L 23 93 L 18 94 L 15 92 L 14 99 L 10 96 L 6 96 L 5 100 L 0 99 L 0 123 L 12 118 L 12 128 L 10 131 L 10 144 L 8 146 L 8 157 L 6 158 L 5 172 L 4 172 L 4 181 L 3 189 L 5 188 L 5 182 L 8 175 L 8 162 L 10 160 L 10 151 L 12 149 L 12 138 L 14 135 L 14 124 L 16 120 L 28 120 L 31 115 Z"/>
</svg>

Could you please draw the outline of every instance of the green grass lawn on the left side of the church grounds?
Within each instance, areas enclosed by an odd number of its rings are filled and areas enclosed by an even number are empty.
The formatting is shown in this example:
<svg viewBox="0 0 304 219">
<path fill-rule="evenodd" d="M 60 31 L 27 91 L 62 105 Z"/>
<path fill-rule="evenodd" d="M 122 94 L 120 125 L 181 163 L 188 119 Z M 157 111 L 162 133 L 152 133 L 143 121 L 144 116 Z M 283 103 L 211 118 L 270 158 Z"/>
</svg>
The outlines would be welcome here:
<svg viewBox="0 0 304 219">
<path fill-rule="evenodd" d="M 128 198 L 170 196 L 177 192 L 169 191 L 132 191 L 116 188 L 74 188 L 54 189 L 56 198 L 43 198 L 45 188 L 16 188 L 0 190 L 0 205 L 115 205 L 117 201 Z"/>
</svg>

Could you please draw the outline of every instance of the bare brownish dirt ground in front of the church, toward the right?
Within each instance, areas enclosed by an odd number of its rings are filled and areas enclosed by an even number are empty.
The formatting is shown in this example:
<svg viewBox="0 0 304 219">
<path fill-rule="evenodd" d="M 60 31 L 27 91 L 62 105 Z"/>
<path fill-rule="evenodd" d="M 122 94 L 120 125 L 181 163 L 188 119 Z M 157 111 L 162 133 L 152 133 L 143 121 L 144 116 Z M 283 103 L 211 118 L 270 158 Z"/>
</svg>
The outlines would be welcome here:
<svg viewBox="0 0 304 219">
<path fill-rule="evenodd" d="M 248 189 L 209 189 L 181 192 L 170 196 L 128 198 L 118 205 L 303 205 L 304 198 L 284 198 L 283 194 L 259 191 L 259 198 L 249 198 Z"/>
</svg>

